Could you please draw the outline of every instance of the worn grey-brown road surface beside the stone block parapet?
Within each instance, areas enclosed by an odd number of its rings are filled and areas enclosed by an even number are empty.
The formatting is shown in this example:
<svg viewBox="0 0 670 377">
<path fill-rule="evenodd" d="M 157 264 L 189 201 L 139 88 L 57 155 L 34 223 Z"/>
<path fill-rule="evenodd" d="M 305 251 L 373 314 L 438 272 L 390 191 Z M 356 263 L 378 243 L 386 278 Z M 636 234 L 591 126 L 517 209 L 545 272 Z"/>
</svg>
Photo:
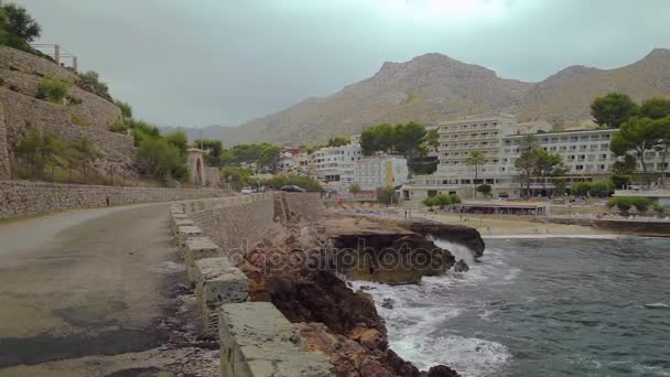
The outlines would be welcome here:
<svg viewBox="0 0 670 377">
<path fill-rule="evenodd" d="M 160 330 L 184 276 L 168 208 L 0 223 L 0 376 L 173 375 L 194 351 L 166 349 Z"/>
</svg>

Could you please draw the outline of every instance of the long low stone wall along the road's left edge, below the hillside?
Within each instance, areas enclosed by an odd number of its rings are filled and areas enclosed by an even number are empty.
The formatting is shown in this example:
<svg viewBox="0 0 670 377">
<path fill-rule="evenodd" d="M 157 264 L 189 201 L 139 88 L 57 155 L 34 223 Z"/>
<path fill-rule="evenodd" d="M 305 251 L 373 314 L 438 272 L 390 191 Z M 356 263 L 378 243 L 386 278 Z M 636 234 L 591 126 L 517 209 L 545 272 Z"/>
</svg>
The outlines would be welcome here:
<svg viewBox="0 0 670 377">
<path fill-rule="evenodd" d="M 95 186 L 0 181 L 0 219 L 108 205 L 229 196 L 215 188 Z"/>
</svg>

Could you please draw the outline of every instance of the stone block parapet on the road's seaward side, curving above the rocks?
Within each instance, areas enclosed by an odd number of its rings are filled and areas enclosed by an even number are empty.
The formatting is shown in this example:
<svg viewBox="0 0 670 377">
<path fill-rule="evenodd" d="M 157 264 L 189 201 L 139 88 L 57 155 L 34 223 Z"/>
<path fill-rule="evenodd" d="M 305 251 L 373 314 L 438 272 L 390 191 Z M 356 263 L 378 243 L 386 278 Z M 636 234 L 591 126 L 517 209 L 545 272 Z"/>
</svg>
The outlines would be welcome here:
<svg viewBox="0 0 670 377">
<path fill-rule="evenodd" d="M 287 220 L 282 214 L 305 219 L 316 216 L 307 211 L 323 213 L 315 200 L 318 195 L 295 195 L 300 196 L 290 200 L 300 203 L 295 211 L 285 207 L 289 200 L 283 193 L 199 200 L 170 209 L 171 226 L 195 286 L 202 328 L 208 334 L 218 328 L 221 376 L 334 376 L 326 356 L 306 352 L 298 325 L 272 303 L 247 302 L 247 277 L 235 267 L 238 245 L 245 239 L 249 246 L 261 240 L 279 226 L 278 220 Z M 180 225 L 190 222 L 194 225 Z"/>
</svg>

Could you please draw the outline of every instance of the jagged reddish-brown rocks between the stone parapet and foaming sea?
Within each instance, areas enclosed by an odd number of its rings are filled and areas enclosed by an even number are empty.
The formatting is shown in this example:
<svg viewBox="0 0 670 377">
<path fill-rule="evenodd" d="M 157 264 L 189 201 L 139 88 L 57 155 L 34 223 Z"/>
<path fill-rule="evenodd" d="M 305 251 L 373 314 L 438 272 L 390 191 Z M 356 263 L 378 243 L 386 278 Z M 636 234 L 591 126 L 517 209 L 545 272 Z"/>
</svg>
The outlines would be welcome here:
<svg viewBox="0 0 670 377">
<path fill-rule="evenodd" d="M 408 235 L 385 237 L 371 239 L 393 245 Z M 338 276 L 334 244 L 318 224 L 266 239 L 240 266 L 250 299 L 270 301 L 289 321 L 301 323 L 303 347 L 325 354 L 337 376 L 458 376 L 444 366 L 420 371 L 389 348 L 383 320 L 369 294 L 354 292 Z"/>
</svg>

